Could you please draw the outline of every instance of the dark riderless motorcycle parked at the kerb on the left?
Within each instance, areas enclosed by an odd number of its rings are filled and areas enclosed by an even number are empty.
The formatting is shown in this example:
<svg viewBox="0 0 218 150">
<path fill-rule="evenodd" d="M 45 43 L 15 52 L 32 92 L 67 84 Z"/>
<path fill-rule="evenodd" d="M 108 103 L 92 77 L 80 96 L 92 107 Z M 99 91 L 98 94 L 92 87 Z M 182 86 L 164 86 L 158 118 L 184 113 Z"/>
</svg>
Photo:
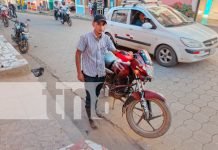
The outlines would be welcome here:
<svg viewBox="0 0 218 150">
<path fill-rule="evenodd" d="M 29 42 L 28 42 L 28 35 L 29 35 L 29 19 L 26 20 L 25 23 L 20 22 L 18 20 L 13 21 L 14 27 L 14 34 L 11 35 L 12 40 L 17 43 L 19 47 L 19 51 L 21 54 L 27 53 L 29 50 Z"/>
</svg>

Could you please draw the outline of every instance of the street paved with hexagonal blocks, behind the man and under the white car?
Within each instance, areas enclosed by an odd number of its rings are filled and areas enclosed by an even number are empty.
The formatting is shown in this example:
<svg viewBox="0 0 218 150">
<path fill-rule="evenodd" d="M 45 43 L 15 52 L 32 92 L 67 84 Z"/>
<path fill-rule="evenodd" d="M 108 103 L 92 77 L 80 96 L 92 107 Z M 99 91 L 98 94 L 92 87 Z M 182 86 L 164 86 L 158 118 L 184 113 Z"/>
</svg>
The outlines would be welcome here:
<svg viewBox="0 0 218 150">
<path fill-rule="evenodd" d="M 46 65 L 56 79 L 76 81 L 76 43 L 79 35 L 90 31 L 91 22 L 73 20 L 70 28 L 47 16 L 22 15 L 21 18 L 32 20 L 29 55 Z M 148 84 L 148 88 L 167 97 L 173 119 L 167 134 L 157 139 L 143 139 L 135 135 L 125 117 L 121 117 L 119 102 L 107 118 L 142 147 L 148 146 L 152 150 L 217 150 L 218 53 L 207 60 L 181 63 L 173 68 L 161 67 L 154 61 L 154 68 L 155 80 Z"/>
</svg>

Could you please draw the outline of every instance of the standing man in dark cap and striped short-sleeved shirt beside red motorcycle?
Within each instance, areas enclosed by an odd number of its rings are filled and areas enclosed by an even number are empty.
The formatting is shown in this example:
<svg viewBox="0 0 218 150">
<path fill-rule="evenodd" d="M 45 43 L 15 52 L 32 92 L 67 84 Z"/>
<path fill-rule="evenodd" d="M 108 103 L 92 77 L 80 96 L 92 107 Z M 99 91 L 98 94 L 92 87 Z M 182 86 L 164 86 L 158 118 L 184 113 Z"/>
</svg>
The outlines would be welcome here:
<svg viewBox="0 0 218 150">
<path fill-rule="evenodd" d="M 103 82 L 105 81 L 106 73 L 104 55 L 108 51 L 116 51 L 116 48 L 114 47 L 114 44 L 111 41 L 111 39 L 104 34 L 106 24 L 106 18 L 103 15 L 96 15 L 92 22 L 94 31 L 86 33 L 85 35 L 82 35 L 80 37 L 80 41 L 78 43 L 76 51 L 77 78 L 79 81 L 85 82 L 85 108 L 89 118 L 90 126 L 93 129 L 97 129 L 97 126 L 91 118 L 91 106 L 93 106 L 91 105 L 91 103 L 93 104 L 95 100 L 91 99 L 91 94 L 96 94 L 97 99 L 100 94 Z M 92 85 L 90 85 L 90 83 L 95 84 L 96 82 L 101 84 L 95 85 L 93 88 Z M 97 115 L 99 116 L 99 114 Z"/>
</svg>

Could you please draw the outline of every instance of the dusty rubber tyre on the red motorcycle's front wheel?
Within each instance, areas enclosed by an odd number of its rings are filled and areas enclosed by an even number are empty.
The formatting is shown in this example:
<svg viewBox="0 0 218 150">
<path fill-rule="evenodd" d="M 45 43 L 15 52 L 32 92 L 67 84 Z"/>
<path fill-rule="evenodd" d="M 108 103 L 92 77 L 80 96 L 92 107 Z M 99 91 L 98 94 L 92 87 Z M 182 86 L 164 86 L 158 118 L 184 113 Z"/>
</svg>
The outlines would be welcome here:
<svg viewBox="0 0 218 150">
<path fill-rule="evenodd" d="M 151 132 L 151 131 L 146 132 L 145 130 L 142 130 L 140 127 L 138 127 L 136 125 L 136 123 L 134 122 L 134 118 L 133 118 L 132 114 L 133 114 L 133 108 L 135 107 L 135 105 L 137 103 L 140 103 L 139 101 L 133 100 L 129 104 L 129 106 L 127 107 L 127 111 L 126 111 L 126 119 L 127 119 L 127 122 L 129 124 L 130 128 L 138 135 L 140 135 L 144 138 L 157 138 L 157 137 L 164 135 L 168 131 L 170 124 L 171 124 L 171 113 L 169 111 L 169 108 L 167 107 L 167 105 L 164 102 L 157 100 L 157 99 L 150 99 L 148 101 L 154 102 L 163 111 L 164 121 L 163 121 L 163 124 L 161 124 L 160 128 L 158 128 L 156 131 L 153 131 L 153 132 Z M 145 120 L 143 120 L 143 121 L 145 121 Z"/>
</svg>

